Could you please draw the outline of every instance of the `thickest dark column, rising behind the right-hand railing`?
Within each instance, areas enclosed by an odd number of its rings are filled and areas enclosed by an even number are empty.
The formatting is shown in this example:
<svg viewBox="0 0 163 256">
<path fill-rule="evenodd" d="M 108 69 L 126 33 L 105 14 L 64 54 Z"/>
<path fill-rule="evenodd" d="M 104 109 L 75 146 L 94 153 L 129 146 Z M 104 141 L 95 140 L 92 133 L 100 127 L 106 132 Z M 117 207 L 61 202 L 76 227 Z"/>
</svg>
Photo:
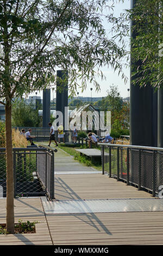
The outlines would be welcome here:
<svg viewBox="0 0 163 256">
<path fill-rule="evenodd" d="M 131 1 L 131 8 L 134 8 L 136 0 Z M 133 26 L 133 22 L 131 22 Z M 136 32 L 131 38 L 136 37 Z M 131 45 L 132 51 L 132 45 Z M 141 62 L 134 63 L 131 58 L 130 72 L 136 72 Z M 140 84 L 133 84 L 130 79 L 130 144 L 154 147 L 157 144 L 157 93 L 150 84 L 140 88 Z"/>
</svg>

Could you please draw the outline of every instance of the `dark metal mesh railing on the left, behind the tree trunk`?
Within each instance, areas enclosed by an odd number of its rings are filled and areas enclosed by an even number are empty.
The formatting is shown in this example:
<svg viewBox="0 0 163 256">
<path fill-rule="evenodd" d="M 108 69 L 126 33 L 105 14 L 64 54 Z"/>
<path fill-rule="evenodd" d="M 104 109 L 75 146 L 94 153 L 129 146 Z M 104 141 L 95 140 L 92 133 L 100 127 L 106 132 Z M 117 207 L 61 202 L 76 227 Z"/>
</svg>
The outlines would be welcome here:
<svg viewBox="0 0 163 256">
<path fill-rule="evenodd" d="M 13 149 L 14 197 L 54 199 L 54 152 L 48 147 Z M 0 149 L 0 186 L 7 196 L 5 148 Z"/>
</svg>

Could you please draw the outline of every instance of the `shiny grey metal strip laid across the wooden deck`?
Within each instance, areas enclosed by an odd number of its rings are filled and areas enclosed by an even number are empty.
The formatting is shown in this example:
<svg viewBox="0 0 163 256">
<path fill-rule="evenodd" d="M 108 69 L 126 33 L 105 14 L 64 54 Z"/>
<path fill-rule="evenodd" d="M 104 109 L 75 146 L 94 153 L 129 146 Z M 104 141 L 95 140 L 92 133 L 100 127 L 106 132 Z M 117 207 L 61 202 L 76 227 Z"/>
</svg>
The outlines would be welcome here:
<svg viewBox="0 0 163 256">
<path fill-rule="evenodd" d="M 163 199 L 65 200 L 43 202 L 45 214 L 163 211 Z"/>
</svg>

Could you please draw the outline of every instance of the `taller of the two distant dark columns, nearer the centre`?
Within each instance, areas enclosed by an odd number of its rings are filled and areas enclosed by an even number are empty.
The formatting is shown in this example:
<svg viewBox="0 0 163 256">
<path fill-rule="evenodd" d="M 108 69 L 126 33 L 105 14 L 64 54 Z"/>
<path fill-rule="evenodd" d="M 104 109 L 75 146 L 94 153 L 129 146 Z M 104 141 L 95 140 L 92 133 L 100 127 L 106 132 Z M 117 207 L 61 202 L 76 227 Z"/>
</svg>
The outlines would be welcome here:
<svg viewBox="0 0 163 256">
<path fill-rule="evenodd" d="M 63 126 L 65 127 L 65 118 L 68 113 L 65 112 L 65 107 L 68 106 L 68 72 L 57 70 L 57 92 L 56 92 L 56 111 L 61 111 L 63 115 Z M 65 137 L 66 141 L 66 137 Z"/>
</svg>

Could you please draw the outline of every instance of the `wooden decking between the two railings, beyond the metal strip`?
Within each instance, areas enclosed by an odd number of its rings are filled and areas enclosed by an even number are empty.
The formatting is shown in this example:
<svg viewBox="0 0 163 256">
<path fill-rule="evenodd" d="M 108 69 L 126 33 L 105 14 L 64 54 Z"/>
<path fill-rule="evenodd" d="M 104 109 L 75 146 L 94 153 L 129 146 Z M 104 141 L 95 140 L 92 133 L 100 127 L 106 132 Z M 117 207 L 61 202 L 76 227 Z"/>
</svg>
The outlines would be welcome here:
<svg viewBox="0 0 163 256">
<path fill-rule="evenodd" d="M 152 194 L 102 174 L 55 175 L 54 196 L 57 200 L 152 198 Z"/>
</svg>

